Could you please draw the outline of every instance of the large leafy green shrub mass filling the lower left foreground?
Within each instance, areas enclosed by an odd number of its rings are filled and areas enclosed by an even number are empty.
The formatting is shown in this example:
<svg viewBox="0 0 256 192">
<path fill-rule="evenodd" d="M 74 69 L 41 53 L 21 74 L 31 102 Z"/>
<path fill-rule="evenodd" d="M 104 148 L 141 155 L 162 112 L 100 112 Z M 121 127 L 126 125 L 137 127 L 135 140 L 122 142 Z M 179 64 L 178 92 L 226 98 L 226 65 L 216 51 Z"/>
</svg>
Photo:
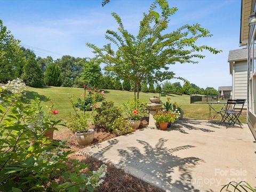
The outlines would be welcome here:
<svg viewBox="0 0 256 192">
<path fill-rule="evenodd" d="M 0 191 L 92 191 L 99 186 L 106 166 L 82 172 L 87 165 L 69 161 L 72 152 L 65 142 L 51 143 L 44 136 L 60 124 L 51 110 L 44 113 L 38 98 L 24 105 L 21 95 L 0 93 Z"/>
</svg>

